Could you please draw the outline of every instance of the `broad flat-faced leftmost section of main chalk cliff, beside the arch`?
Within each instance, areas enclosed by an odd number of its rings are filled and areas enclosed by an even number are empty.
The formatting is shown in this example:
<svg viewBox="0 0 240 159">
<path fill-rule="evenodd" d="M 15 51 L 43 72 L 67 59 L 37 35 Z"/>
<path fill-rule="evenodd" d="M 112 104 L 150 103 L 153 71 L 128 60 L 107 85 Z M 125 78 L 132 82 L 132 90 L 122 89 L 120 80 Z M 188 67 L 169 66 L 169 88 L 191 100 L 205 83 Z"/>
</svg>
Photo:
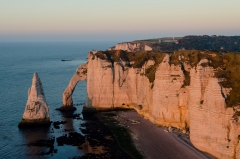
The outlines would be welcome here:
<svg viewBox="0 0 240 159">
<path fill-rule="evenodd" d="M 88 54 L 87 107 L 104 109 L 150 104 L 151 84 L 141 75 L 142 69 L 128 67 L 127 63 L 110 62 Z"/>
</svg>

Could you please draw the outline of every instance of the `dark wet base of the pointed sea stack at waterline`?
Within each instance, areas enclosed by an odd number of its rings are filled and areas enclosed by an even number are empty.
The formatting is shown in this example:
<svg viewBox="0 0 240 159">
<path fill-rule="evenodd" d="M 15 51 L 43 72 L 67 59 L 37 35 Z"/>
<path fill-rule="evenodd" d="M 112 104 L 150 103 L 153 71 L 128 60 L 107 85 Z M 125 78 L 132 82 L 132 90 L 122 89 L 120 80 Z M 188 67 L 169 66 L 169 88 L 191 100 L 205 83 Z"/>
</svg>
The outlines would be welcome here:
<svg viewBox="0 0 240 159">
<path fill-rule="evenodd" d="M 23 127 L 39 127 L 39 126 L 50 126 L 51 122 L 48 119 L 34 119 L 34 120 L 26 120 L 22 119 L 22 121 L 18 124 L 19 128 Z"/>
</svg>

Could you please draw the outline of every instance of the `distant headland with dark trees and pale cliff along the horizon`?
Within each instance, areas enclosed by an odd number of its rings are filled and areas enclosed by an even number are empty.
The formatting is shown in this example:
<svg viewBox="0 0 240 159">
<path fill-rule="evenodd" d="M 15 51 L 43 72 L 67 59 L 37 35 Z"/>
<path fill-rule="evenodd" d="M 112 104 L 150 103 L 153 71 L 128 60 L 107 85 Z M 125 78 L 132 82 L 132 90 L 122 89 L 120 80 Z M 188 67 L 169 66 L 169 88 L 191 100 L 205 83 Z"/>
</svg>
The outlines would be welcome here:
<svg viewBox="0 0 240 159">
<path fill-rule="evenodd" d="M 109 50 L 162 51 L 176 50 L 215 50 L 221 52 L 240 52 L 240 36 L 185 36 L 168 37 L 119 43 Z"/>
</svg>

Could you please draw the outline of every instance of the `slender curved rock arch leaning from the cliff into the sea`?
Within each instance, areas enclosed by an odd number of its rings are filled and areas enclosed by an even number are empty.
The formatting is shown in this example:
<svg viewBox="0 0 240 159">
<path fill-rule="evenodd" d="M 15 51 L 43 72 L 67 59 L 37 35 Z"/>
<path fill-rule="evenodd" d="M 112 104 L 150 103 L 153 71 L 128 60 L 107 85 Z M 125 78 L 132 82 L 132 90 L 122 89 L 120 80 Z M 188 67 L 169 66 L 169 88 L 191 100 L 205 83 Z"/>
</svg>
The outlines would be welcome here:
<svg viewBox="0 0 240 159">
<path fill-rule="evenodd" d="M 59 110 L 75 110 L 73 107 L 72 93 L 79 81 L 85 80 L 87 77 L 87 64 L 79 66 L 71 78 L 68 87 L 65 89 L 62 95 L 63 106 Z"/>
</svg>

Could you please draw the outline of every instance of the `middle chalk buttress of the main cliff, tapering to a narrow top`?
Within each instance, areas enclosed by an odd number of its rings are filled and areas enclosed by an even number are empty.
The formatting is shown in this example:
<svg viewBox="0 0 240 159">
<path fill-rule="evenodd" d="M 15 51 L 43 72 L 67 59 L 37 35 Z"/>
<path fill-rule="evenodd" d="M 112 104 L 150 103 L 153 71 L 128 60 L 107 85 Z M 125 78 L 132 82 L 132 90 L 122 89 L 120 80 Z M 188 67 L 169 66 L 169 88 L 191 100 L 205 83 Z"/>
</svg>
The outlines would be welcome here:
<svg viewBox="0 0 240 159">
<path fill-rule="evenodd" d="M 179 93 L 184 75 L 181 67 L 169 65 L 169 55 L 159 64 L 154 80 L 151 120 L 160 125 L 181 127 Z M 184 105 L 184 104 L 183 104 Z"/>
</svg>

